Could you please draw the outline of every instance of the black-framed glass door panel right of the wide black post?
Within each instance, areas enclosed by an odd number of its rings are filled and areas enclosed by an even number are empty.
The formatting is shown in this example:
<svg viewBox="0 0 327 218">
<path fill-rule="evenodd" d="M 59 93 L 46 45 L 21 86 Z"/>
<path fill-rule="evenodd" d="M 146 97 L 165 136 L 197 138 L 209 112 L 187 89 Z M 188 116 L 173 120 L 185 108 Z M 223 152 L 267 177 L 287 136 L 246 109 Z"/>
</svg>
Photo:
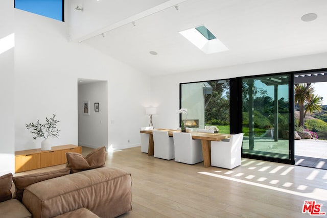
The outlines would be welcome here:
<svg viewBox="0 0 327 218">
<path fill-rule="evenodd" d="M 242 79 L 242 156 L 294 162 L 293 79 L 269 75 Z"/>
</svg>

